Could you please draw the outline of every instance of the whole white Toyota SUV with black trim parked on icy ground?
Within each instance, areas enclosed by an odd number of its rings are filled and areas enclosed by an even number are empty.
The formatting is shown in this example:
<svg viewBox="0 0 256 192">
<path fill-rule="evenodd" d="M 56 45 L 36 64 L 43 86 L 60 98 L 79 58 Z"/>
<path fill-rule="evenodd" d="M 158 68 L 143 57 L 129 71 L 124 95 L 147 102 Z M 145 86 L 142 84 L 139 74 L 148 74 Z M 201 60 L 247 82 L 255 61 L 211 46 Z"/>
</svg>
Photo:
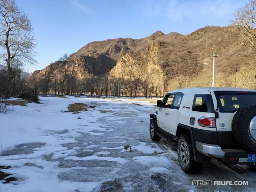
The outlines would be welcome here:
<svg viewBox="0 0 256 192">
<path fill-rule="evenodd" d="M 150 115 L 151 139 L 177 141 L 186 173 L 199 172 L 212 157 L 256 169 L 256 90 L 178 89 L 157 106 Z"/>
</svg>

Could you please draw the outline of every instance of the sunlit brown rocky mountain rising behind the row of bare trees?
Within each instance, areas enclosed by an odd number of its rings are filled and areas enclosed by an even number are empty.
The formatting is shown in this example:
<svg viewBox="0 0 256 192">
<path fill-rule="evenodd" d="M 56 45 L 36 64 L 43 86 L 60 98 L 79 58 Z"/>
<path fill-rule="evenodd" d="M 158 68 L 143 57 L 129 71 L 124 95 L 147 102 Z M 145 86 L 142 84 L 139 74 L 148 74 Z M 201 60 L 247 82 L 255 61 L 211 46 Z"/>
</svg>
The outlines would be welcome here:
<svg viewBox="0 0 256 192">
<path fill-rule="evenodd" d="M 194 78 L 211 73 L 213 52 L 218 55 L 216 72 L 251 62 L 255 54 L 248 54 L 247 47 L 235 46 L 236 37 L 226 27 L 206 26 L 186 36 L 156 31 L 142 39 L 95 41 L 72 53 L 67 60 L 73 61 L 77 78 L 108 74 L 166 84 L 179 76 Z"/>
</svg>

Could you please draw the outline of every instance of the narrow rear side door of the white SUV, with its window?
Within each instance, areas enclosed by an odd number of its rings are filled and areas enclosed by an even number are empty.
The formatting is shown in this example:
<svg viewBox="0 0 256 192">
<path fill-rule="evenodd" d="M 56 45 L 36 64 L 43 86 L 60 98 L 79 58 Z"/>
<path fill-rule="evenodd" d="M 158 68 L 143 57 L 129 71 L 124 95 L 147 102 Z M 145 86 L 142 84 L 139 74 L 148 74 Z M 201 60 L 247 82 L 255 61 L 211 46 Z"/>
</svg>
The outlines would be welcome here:
<svg viewBox="0 0 256 192">
<path fill-rule="evenodd" d="M 177 130 L 177 118 L 178 118 L 180 103 L 182 98 L 183 98 L 183 93 L 175 94 L 174 100 L 172 102 L 171 111 L 169 113 L 169 121 L 170 121 L 169 128 L 171 129 L 170 133 L 172 133 L 173 135 L 176 134 L 176 130 Z"/>
</svg>

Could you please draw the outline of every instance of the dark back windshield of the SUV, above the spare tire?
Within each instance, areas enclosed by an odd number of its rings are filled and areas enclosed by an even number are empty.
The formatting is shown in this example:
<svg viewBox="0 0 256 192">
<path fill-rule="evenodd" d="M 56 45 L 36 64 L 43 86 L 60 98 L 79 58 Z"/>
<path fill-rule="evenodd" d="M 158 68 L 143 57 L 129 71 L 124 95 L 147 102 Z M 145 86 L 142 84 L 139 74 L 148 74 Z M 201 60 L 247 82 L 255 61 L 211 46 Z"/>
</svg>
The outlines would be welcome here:
<svg viewBox="0 0 256 192">
<path fill-rule="evenodd" d="M 246 105 L 256 104 L 256 92 L 214 91 L 219 111 L 234 113 Z"/>
</svg>

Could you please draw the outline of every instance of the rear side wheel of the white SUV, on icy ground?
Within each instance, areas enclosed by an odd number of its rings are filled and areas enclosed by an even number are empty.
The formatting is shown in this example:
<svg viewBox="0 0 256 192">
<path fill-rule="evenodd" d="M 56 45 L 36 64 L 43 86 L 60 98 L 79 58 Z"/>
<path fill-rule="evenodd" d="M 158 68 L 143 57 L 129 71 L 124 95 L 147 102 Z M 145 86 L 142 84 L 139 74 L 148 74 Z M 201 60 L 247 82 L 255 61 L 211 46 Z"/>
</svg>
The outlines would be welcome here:
<svg viewBox="0 0 256 192">
<path fill-rule="evenodd" d="M 194 153 L 189 135 L 183 134 L 179 137 L 177 153 L 180 167 L 185 173 L 198 173 L 201 171 L 203 164 L 197 163 L 194 160 Z"/>
</svg>

